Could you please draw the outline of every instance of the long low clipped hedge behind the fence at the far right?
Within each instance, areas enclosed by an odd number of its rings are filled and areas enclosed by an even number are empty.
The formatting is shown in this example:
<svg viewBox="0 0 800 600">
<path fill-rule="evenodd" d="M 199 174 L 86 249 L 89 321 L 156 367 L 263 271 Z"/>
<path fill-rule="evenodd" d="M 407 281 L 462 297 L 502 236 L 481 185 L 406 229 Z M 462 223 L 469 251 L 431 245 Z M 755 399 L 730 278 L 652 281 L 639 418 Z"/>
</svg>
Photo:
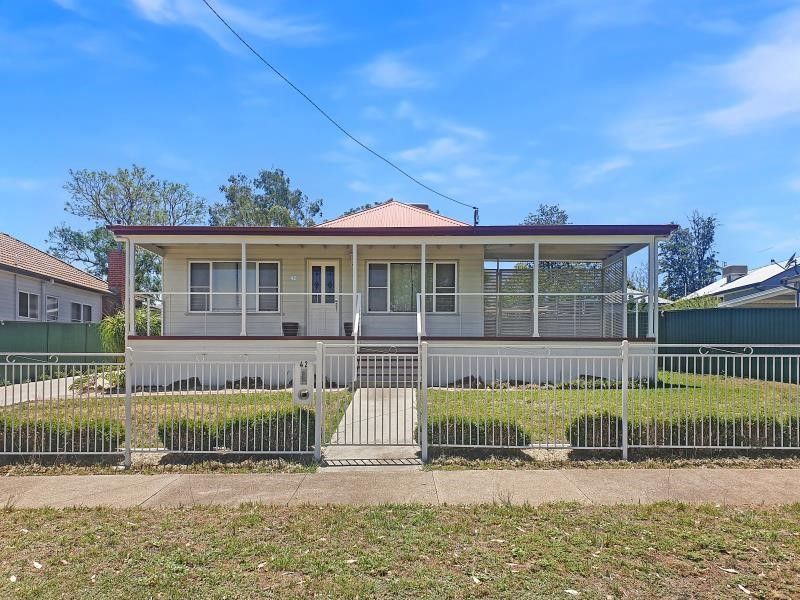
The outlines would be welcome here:
<svg viewBox="0 0 800 600">
<path fill-rule="evenodd" d="M 767 417 L 720 418 L 708 415 L 676 417 L 672 421 L 644 420 L 628 426 L 631 446 L 694 446 L 732 448 L 785 446 L 800 448 L 797 419 Z M 574 447 L 621 447 L 622 419 L 602 413 L 585 415 L 567 425 L 567 438 Z"/>
</svg>

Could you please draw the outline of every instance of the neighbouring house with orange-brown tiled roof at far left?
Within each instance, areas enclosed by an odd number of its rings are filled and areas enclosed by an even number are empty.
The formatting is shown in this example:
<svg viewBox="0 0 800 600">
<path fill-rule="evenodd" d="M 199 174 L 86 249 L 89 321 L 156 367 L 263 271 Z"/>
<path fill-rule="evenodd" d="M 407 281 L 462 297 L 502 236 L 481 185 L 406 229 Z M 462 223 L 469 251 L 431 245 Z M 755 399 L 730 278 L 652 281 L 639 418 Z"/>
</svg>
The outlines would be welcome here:
<svg viewBox="0 0 800 600">
<path fill-rule="evenodd" d="M 0 233 L 0 321 L 97 323 L 108 284 Z"/>
</svg>

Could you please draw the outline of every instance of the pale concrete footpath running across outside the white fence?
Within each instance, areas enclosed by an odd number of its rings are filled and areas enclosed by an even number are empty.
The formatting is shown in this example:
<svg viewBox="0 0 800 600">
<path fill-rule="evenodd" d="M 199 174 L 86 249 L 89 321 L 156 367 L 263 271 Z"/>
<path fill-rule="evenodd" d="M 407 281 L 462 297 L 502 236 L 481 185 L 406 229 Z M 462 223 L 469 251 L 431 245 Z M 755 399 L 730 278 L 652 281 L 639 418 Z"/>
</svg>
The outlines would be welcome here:
<svg viewBox="0 0 800 600">
<path fill-rule="evenodd" d="M 0 478 L 17 508 L 159 507 L 255 502 L 537 505 L 673 500 L 728 506 L 800 502 L 800 469 L 321 471 L 308 474 L 39 475 Z"/>
</svg>

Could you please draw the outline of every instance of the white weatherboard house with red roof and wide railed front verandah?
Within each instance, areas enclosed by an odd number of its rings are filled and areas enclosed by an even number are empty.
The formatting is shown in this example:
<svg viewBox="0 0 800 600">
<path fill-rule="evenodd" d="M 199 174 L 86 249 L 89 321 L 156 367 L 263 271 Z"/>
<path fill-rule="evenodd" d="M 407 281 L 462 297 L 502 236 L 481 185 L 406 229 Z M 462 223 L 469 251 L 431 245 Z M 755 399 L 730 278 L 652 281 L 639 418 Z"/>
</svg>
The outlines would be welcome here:
<svg viewBox="0 0 800 600">
<path fill-rule="evenodd" d="M 317 341 L 434 348 L 618 345 L 627 258 L 649 248 L 657 335 L 656 244 L 673 225 L 472 226 L 390 200 L 309 228 L 115 226 L 132 257 L 163 257 L 160 335 L 134 351 L 313 353 Z M 141 300 L 138 300 L 141 301 Z"/>
</svg>

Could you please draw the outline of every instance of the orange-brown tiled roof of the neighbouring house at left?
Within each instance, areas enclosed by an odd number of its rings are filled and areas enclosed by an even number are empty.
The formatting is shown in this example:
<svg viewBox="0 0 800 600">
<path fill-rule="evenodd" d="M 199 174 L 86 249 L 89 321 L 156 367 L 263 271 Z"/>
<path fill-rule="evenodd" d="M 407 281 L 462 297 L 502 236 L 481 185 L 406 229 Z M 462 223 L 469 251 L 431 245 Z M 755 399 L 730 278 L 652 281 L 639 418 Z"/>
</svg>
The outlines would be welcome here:
<svg viewBox="0 0 800 600">
<path fill-rule="evenodd" d="M 0 269 L 40 279 L 52 279 L 64 285 L 94 292 L 109 293 L 108 284 L 102 279 L 76 269 L 7 233 L 0 233 Z"/>
</svg>

